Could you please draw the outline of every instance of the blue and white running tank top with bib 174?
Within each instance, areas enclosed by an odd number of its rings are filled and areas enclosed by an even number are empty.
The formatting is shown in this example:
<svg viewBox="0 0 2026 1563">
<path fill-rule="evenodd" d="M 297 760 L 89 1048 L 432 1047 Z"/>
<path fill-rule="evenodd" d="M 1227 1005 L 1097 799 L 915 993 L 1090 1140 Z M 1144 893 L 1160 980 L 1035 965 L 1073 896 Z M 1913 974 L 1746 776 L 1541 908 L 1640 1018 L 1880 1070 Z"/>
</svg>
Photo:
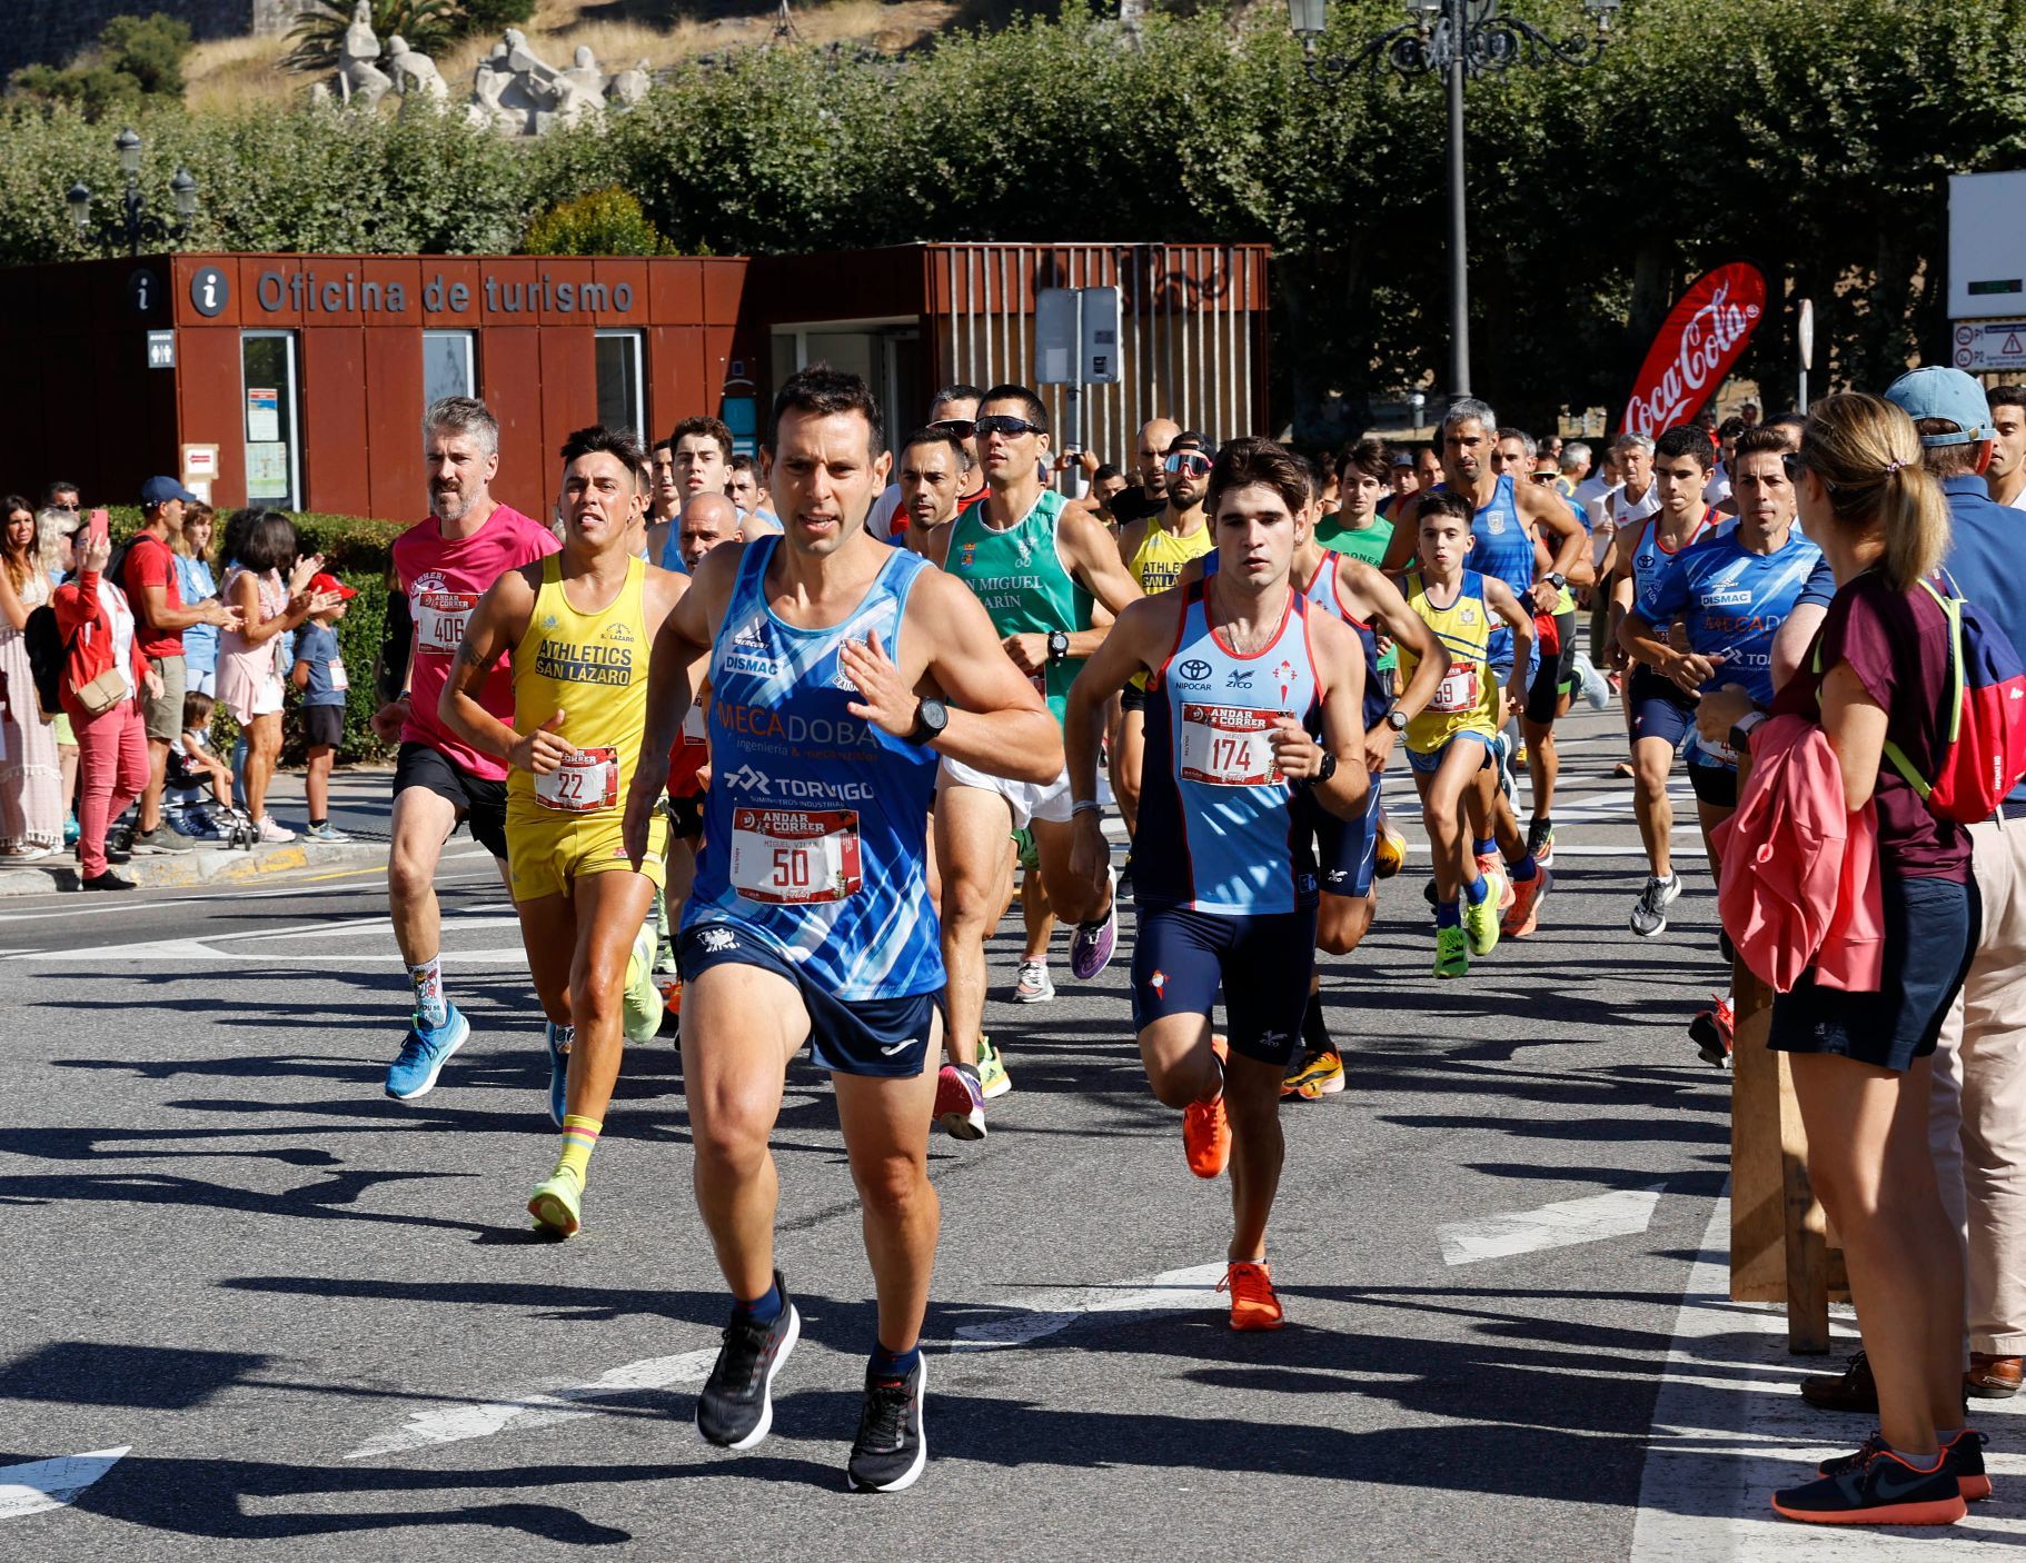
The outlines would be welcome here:
<svg viewBox="0 0 2026 1563">
<path fill-rule="evenodd" d="M 1181 632 L 1147 686 L 1141 838 L 1163 842 L 1135 867 L 1141 905 L 1250 917 L 1315 905 L 1311 832 L 1272 767 L 1274 717 L 1321 709 L 1309 601 L 1289 589 L 1272 642 L 1232 652 L 1210 626 L 1207 581 L 1187 587 Z"/>
</svg>

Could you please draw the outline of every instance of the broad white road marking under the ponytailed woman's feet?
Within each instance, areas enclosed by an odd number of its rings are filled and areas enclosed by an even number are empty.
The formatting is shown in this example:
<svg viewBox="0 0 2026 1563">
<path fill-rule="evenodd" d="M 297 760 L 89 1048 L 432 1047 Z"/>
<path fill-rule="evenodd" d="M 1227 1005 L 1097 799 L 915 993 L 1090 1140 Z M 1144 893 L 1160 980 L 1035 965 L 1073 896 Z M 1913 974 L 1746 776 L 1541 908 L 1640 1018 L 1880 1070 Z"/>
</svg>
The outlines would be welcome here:
<svg viewBox="0 0 2026 1563">
<path fill-rule="evenodd" d="M 1868 1421 L 1823 1415 L 1797 1383 L 1827 1373 L 1840 1356 L 1791 1356 L 1787 1316 L 1773 1304 L 1730 1302 L 1730 1199 L 1718 1199 L 1702 1251 L 1690 1269 L 1676 1318 L 1673 1346 L 1653 1403 L 1653 1433 L 1639 1482 L 1631 1563 L 1684 1559 L 1898 1559 L 1990 1557 L 1994 1541 L 2026 1533 L 2026 1456 L 2012 1429 L 2026 1415 L 2008 1401 L 1971 1401 L 1971 1421 L 1994 1433 L 1985 1464 L 1998 1480 L 1990 1502 L 1969 1504 L 1969 1518 L 1943 1529 L 1795 1525 L 1767 1500 L 1779 1486 L 1813 1478 L 1829 1454 L 1850 1454 Z M 1858 1346 L 1848 1312 L 1834 1318 L 1838 1348 Z M 2006 1423 L 2006 1425 L 1994 1425 Z M 1852 1535 L 1856 1531 L 1856 1535 Z"/>
</svg>

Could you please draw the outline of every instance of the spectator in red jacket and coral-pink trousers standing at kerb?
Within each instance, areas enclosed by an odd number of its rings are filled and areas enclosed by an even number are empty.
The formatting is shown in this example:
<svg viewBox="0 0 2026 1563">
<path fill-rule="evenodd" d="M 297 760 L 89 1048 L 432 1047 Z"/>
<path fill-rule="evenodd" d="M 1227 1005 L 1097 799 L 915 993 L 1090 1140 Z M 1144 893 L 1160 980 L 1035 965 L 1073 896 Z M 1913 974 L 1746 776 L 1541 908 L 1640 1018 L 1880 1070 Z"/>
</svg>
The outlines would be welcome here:
<svg viewBox="0 0 2026 1563">
<path fill-rule="evenodd" d="M 103 573 L 111 543 L 83 532 L 77 577 L 57 587 L 57 630 L 71 648 L 63 664 L 63 709 L 83 757 L 77 889 L 130 891 L 105 858 L 105 830 L 148 786 L 148 725 L 136 694 L 160 692 L 160 678 L 140 650 L 134 609 Z"/>
</svg>

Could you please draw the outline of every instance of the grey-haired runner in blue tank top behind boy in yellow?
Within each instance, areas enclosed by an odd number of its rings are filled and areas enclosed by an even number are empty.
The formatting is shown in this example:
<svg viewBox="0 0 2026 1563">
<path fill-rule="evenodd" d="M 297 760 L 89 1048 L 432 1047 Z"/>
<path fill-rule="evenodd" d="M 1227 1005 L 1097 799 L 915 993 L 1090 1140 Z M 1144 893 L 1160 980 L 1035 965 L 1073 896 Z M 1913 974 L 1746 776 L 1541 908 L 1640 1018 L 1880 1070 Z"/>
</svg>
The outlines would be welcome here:
<svg viewBox="0 0 2026 1563">
<path fill-rule="evenodd" d="M 1497 429 L 1497 413 L 1475 397 L 1451 403 L 1443 415 L 1443 488 L 1463 494 L 1473 506 L 1471 534 L 1475 543 L 1465 569 L 1503 581 L 1526 611 L 1552 613 L 1562 587 L 1586 585 L 1596 579 L 1590 563 L 1590 541 L 1558 490 L 1515 484 L 1509 472 L 1495 470 Z M 1404 571 L 1412 563 L 1418 539 L 1418 496 L 1408 496 L 1406 506 L 1396 516 L 1392 547 L 1386 549 L 1390 573 Z M 1536 539 L 1552 555 L 1552 569 L 1540 579 L 1536 579 L 1534 563 Z M 1528 682 L 1536 670 L 1538 664 L 1530 660 Z M 1499 755 L 1499 765 L 1475 777 L 1473 790 L 1465 794 L 1465 806 L 1479 871 L 1497 871 L 1503 858 L 1505 889 L 1513 897 L 1505 909 L 1503 925 L 1513 937 L 1524 937 L 1534 931 L 1540 917 L 1538 901 L 1546 881 L 1519 832 L 1511 800 L 1499 786 L 1505 775 L 1503 733 L 1513 715 L 1511 701 L 1505 698 L 1511 688 L 1511 672 L 1513 638 L 1511 630 L 1499 624 L 1491 634 L 1491 678 L 1501 690 L 1499 743 L 1493 749 Z"/>
</svg>

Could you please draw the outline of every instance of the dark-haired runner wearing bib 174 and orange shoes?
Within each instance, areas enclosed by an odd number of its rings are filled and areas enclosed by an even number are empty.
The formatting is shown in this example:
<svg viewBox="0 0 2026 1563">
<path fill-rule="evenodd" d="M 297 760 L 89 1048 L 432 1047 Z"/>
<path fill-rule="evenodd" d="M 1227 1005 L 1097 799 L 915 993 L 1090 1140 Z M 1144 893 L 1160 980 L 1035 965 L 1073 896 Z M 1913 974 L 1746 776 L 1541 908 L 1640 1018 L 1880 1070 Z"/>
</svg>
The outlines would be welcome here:
<svg viewBox="0 0 2026 1563">
<path fill-rule="evenodd" d="M 1317 871 L 1297 800 L 1363 814 L 1363 656 L 1357 638 L 1289 583 L 1309 478 L 1264 439 L 1226 445 L 1210 472 L 1220 569 L 1131 603 L 1070 690 L 1074 873 L 1102 893 L 1110 848 L 1098 802 L 1104 703 L 1147 670 L 1143 828 L 1135 895 L 1133 1022 L 1155 1099 L 1181 1107 L 1189 1170 L 1232 1170 L 1224 1288 L 1234 1330 L 1282 1322 L 1266 1263 L 1280 1182 L 1280 1081 L 1315 966 Z M 1321 723 L 1317 743 L 1303 727 Z M 1212 1041 L 1224 988 L 1230 1045 Z"/>
</svg>

